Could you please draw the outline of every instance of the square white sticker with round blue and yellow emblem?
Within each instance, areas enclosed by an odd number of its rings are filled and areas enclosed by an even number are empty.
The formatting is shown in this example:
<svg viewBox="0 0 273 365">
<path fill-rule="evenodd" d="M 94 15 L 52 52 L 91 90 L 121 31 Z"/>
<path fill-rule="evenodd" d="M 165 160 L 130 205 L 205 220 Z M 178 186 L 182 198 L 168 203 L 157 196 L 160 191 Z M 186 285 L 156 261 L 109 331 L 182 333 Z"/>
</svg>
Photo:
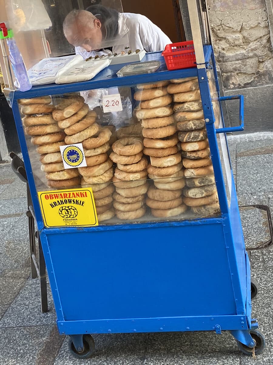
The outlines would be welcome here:
<svg viewBox="0 0 273 365">
<path fill-rule="evenodd" d="M 77 167 L 87 166 L 82 143 L 60 146 L 60 150 L 65 169 L 73 169 Z"/>
</svg>

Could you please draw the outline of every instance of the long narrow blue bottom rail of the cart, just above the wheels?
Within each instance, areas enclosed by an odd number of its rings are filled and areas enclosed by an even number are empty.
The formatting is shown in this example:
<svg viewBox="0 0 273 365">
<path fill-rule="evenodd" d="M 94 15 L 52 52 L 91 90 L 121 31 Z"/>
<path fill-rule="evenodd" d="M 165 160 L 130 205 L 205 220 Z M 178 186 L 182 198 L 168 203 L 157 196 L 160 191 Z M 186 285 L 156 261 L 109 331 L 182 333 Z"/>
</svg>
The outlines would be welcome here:
<svg viewBox="0 0 273 365">
<path fill-rule="evenodd" d="M 242 324 L 244 322 L 244 324 Z M 128 318 L 57 322 L 61 334 L 248 330 L 245 316 Z"/>
</svg>

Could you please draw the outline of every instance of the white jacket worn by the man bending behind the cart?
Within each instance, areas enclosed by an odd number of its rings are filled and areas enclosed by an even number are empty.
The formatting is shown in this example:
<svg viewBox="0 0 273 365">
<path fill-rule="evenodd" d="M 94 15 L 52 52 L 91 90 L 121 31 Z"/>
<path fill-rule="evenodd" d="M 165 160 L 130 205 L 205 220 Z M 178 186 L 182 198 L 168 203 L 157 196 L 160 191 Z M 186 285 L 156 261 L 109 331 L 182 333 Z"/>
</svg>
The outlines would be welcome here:
<svg viewBox="0 0 273 365">
<path fill-rule="evenodd" d="M 170 38 L 158 26 L 141 14 L 119 13 L 118 34 L 119 45 L 112 45 L 113 53 L 137 49 L 144 49 L 146 52 L 163 51 L 165 46 L 171 43 Z M 81 54 L 83 58 L 109 53 L 87 52 L 82 47 L 76 47 L 75 50 L 76 54 Z"/>
</svg>

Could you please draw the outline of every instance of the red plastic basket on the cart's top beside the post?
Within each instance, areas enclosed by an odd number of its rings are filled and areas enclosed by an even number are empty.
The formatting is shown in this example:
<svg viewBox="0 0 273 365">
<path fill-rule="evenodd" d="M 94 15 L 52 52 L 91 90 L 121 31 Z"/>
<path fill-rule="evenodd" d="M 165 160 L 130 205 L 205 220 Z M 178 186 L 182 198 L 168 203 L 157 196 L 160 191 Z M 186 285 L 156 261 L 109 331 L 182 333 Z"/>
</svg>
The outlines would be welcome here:
<svg viewBox="0 0 273 365">
<path fill-rule="evenodd" d="M 193 41 L 171 43 L 162 52 L 168 70 L 197 67 Z"/>
</svg>

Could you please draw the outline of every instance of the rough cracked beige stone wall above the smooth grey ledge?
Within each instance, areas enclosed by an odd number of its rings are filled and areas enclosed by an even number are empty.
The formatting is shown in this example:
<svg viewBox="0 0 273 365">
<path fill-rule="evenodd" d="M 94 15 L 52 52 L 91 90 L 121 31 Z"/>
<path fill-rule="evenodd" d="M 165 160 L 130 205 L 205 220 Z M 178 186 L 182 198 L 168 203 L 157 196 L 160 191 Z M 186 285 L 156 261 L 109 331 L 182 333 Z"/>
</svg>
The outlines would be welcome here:
<svg viewBox="0 0 273 365">
<path fill-rule="evenodd" d="M 223 89 L 273 84 L 265 0 L 207 0 Z"/>
</svg>

